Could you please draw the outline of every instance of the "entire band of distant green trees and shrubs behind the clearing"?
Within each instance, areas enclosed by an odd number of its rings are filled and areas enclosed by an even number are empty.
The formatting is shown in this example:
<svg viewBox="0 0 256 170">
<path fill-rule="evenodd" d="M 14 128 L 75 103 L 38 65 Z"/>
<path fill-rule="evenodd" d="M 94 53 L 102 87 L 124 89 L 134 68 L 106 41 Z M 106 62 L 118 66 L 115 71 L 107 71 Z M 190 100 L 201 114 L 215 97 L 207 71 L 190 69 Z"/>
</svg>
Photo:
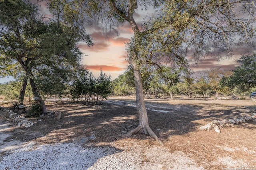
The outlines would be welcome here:
<svg viewBox="0 0 256 170">
<path fill-rule="evenodd" d="M 161 66 L 160 68 L 143 68 L 142 80 L 143 90 L 146 97 L 151 96 L 174 96 L 185 95 L 188 97 L 211 97 L 218 98 L 225 96 L 248 96 L 256 91 L 256 54 L 243 56 L 238 60 L 239 65 L 234 70 L 222 70 L 218 67 L 210 68 L 200 72 L 193 78 L 191 72 L 188 74 L 182 68 L 171 68 Z M 92 72 L 80 68 L 75 77 L 69 79 L 69 82 L 54 80 L 52 84 L 48 83 L 39 86 L 39 92 L 42 98 L 68 98 L 72 101 L 82 100 L 84 103 L 97 103 L 108 96 L 127 96 L 135 95 L 135 84 L 132 67 L 111 81 L 100 70 L 97 78 L 92 76 Z M 0 94 L 5 96 L 6 100 L 19 100 L 21 80 L 10 81 L 0 84 Z M 25 91 L 25 99 L 30 102 L 32 99 L 32 90 L 30 84 Z"/>
</svg>

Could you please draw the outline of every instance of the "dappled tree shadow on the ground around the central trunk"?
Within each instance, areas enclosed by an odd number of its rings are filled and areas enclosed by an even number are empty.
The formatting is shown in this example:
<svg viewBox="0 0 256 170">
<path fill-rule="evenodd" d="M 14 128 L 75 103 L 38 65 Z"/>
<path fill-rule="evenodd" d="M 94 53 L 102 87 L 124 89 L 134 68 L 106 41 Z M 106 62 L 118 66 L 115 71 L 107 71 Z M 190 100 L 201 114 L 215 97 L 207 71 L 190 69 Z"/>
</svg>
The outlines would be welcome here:
<svg viewBox="0 0 256 170">
<path fill-rule="evenodd" d="M 120 101 L 127 104 L 127 101 Z M 147 101 L 146 104 L 148 103 Z M 34 118 L 37 123 L 33 127 L 12 129 L 15 138 L 21 141 L 36 140 L 39 143 L 71 142 L 91 146 L 96 143 L 120 140 L 122 139 L 120 135 L 134 129 L 139 122 L 136 107 L 126 105 L 104 103 L 91 106 L 82 103 L 61 103 L 47 107 L 50 111 L 60 111 L 61 119 L 56 121 L 53 114 Z M 250 109 L 252 107 L 249 106 L 154 102 L 148 109 L 148 120 L 156 135 L 161 140 L 168 140 L 171 135 L 197 131 L 200 126 L 214 119 L 232 119 L 244 114 L 248 115 Z M 250 123 L 255 124 L 255 121 Z M 142 133 L 132 137 L 149 139 Z M 86 140 L 83 141 L 83 139 Z"/>
</svg>

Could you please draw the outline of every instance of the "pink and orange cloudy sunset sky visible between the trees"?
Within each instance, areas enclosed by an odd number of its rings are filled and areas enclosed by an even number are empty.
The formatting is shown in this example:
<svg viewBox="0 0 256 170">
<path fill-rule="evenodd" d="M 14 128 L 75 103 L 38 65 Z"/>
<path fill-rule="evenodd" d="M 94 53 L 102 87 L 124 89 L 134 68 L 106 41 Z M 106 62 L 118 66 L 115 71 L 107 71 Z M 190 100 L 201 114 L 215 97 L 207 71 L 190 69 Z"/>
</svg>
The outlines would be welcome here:
<svg viewBox="0 0 256 170">
<path fill-rule="evenodd" d="M 47 8 L 40 2 L 41 5 L 41 13 L 49 14 Z M 154 10 L 137 10 L 136 14 L 134 14 L 134 18 L 140 27 L 143 18 L 146 15 L 152 15 Z M 93 38 L 94 46 L 87 47 L 87 45 L 83 42 L 78 43 L 78 47 L 84 53 L 84 57 L 82 59 L 82 64 L 85 64 L 87 68 L 94 74 L 94 76 L 98 76 L 100 68 L 102 68 L 103 72 L 107 75 L 111 75 L 112 80 L 118 77 L 119 74 L 123 74 L 126 66 L 128 65 L 126 58 L 126 42 L 133 36 L 132 29 L 128 22 L 124 23 L 124 25 L 120 25 L 119 33 L 117 36 L 106 36 L 106 34 L 102 33 L 102 28 L 100 27 L 88 27 L 86 28 L 87 33 Z M 231 70 L 235 66 L 237 66 L 236 59 L 239 59 L 241 55 L 241 50 L 236 49 L 234 52 L 234 56 L 231 59 L 225 59 L 218 61 L 214 58 L 205 58 L 202 59 L 202 63 L 199 63 L 197 68 L 193 68 L 195 72 L 200 70 L 210 69 L 212 67 L 221 67 L 223 69 Z M 8 80 L 13 80 L 12 78 L 3 78 L 0 79 L 0 83 L 4 83 Z"/>
</svg>

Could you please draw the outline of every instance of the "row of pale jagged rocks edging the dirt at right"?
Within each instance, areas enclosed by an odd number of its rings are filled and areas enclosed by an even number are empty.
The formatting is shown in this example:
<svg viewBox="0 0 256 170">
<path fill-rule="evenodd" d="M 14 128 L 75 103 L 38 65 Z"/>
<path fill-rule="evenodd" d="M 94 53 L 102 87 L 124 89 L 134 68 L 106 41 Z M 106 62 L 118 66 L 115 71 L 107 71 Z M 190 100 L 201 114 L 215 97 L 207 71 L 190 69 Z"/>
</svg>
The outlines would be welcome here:
<svg viewBox="0 0 256 170">
<path fill-rule="evenodd" d="M 222 127 L 234 127 L 235 124 L 244 123 L 246 121 L 256 118 L 256 113 L 252 113 L 252 116 L 242 116 L 235 119 L 224 119 L 222 121 L 214 120 L 211 123 L 207 123 L 204 126 L 199 127 L 200 130 L 210 131 L 215 129 L 217 133 L 220 133 Z"/>
</svg>

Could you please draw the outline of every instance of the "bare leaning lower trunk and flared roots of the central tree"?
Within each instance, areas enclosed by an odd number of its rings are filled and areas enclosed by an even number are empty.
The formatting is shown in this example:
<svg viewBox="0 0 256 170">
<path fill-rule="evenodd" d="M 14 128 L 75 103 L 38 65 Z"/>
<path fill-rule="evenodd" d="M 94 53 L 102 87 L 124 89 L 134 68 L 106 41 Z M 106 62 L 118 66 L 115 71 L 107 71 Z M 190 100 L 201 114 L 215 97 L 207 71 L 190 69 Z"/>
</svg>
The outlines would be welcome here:
<svg viewBox="0 0 256 170">
<path fill-rule="evenodd" d="M 151 137 L 156 139 L 160 145 L 163 145 L 162 141 L 156 136 L 148 124 L 148 114 L 146 111 L 146 106 L 143 96 L 142 80 L 140 75 L 140 70 L 138 69 L 136 61 L 132 61 L 132 66 L 134 70 L 134 80 L 135 80 L 135 89 L 136 89 L 136 106 L 139 117 L 139 125 L 132 131 L 122 135 L 123 137 L 130 137 L 134 133 L 143 131 L 145 134 L 149 134 Z"/>
</svg>

